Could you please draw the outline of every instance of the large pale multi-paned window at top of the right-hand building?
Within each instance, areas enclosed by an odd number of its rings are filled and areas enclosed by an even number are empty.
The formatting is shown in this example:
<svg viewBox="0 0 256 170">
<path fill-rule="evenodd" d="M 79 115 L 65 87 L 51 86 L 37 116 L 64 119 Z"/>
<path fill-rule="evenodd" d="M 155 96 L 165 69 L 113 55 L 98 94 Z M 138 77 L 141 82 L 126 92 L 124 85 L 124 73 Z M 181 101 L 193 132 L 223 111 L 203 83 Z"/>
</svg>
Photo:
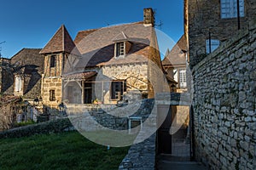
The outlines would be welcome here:
<svg viewBox="0 0 256 170">
<path fill-rule="evenodd" d="M 244 0 L 221 0 L 221 18 L 237 17 L 237 1 L 239 1 L 240 16 L 244 16 Z"/>
</svg>

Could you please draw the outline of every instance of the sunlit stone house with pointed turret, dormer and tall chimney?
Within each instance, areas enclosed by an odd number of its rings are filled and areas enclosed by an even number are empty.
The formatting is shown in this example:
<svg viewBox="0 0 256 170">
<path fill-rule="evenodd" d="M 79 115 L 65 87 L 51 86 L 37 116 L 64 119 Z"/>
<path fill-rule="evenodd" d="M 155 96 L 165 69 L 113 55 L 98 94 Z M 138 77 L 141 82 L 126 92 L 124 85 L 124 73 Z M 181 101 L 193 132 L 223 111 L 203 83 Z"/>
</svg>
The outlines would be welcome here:
<svg viewBox="0 0 256 170">
<path fill-rule="evenodd" d="M 143 14 L 140 22 L 79 31 L 74 41 L 61 26 L 40 51 L 44 106 L 53 111 L 63 101 L 117 104 L 126 96 L 153 98 L 165 89 L 156 86 L 163 68 L 154 12 L 145 8 Z M 172 78 L 166 82 L 176 83 Z"/>
</svg>

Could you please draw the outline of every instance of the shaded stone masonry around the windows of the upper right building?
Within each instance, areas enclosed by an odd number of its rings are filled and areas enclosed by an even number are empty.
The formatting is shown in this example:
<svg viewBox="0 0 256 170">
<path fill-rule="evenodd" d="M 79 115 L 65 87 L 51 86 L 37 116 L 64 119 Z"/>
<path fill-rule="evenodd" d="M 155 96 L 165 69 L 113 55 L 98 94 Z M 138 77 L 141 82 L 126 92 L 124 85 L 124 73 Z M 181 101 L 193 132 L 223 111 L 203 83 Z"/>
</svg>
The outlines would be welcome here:
<svg viewBox="0 0 256 170">
<path fill-rule="evenodd" d="M 249 23 L 255 20 L 256 2 L 245 0 L 244 17 L 241 17 L 241 29 L 247 30 Z M 189 41 L 189 65 L 192 68 L 207 54 L 206 40 L 218 39 L 220 43 L 233 37 L 237 32 L 237 18 L 221 18 L 220 0 L 184 1 L 184 30 Z"/>
</svg>

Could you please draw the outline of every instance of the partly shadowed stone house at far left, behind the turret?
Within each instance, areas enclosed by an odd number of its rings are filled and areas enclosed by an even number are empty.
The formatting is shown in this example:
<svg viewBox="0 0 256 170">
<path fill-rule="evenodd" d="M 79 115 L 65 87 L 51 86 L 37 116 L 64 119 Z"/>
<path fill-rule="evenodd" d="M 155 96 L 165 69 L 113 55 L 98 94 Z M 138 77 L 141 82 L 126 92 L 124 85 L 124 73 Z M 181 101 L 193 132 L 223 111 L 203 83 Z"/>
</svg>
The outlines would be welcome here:
<svg viewBox="0 0 256 170">
<path fill-rule="evenodd" d="M 44 57 L 40 48 L 23 48 L 11 59 L 1 59 L 1 93 L 22 96 L 32 102 L 41 99 Z"/>
</svg>

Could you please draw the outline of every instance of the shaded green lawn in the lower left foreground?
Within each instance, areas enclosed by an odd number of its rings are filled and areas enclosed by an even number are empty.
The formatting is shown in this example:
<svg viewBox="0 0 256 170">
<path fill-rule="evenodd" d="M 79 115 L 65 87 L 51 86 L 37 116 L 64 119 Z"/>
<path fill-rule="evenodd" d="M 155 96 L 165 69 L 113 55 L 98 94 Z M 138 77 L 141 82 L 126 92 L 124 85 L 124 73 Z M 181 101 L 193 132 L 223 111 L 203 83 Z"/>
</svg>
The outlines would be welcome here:
<svg viewBox="0 0 256 170">
<path fill-rule="evenodd" d="M 128 149 L 108 150 L 78 132 L 0 139 L 0 169 L 118 169 Z"/>
</svg>

